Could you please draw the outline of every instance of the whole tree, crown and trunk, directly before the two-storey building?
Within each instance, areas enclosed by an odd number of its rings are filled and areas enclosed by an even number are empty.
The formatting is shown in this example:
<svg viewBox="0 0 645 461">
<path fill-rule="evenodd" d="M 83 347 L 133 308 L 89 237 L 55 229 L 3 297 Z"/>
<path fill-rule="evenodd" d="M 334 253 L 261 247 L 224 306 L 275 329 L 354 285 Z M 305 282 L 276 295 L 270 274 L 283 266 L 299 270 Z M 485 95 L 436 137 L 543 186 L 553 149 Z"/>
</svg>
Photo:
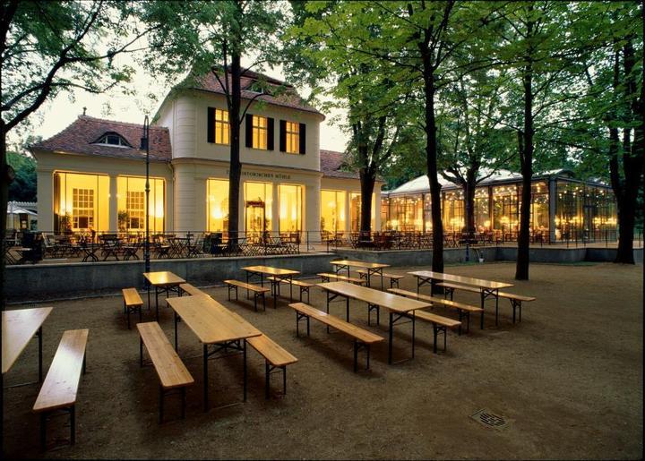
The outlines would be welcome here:
<svg viewBox="0 0 645 461">
<path fill-rule="evenodd" d="M 280 33 L 284 19 L 280 4 L 260 0 L 153 2 L 147 5 L 144 21 L 155 26 L 150 41 L 162 52 L 146 61 L 158 75 L 175 79 L 190 73 L 178 87 L 189 88 L 206 73 L 224 90 L 230 124 L 228 168 L 228 233 L 238 235 L 239 194 L 242 177 L 240 131 L 245 114 L 262 92 L 245 104 L 242 76 L 251 69 L 262 70 L 278 62 Z M 252 60 L 243 68 L 242 58 Z M 274 91 L 276 94 L 276 91 Z"/>
</svg>

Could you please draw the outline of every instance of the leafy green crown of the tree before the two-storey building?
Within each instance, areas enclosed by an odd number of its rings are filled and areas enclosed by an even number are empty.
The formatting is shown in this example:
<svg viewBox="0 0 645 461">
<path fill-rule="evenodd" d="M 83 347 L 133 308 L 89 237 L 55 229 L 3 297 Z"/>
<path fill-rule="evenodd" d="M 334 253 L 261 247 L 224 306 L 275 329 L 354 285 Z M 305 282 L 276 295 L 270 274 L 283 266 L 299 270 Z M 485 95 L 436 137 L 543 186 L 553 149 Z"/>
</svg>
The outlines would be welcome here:
<svg viewBox="0 0 645 461">
<path fill-rule="evenodd" d="M 159 78 L 190 87 L 194 79 L 231 64 L 231 55 L 253 62 L 255 72 L 276 64 L 284 13 L 279 3 L 249 0 L 147 2 L 142 21 L 150 24 L 155 58 L 142 65 Z"/>
</svg>

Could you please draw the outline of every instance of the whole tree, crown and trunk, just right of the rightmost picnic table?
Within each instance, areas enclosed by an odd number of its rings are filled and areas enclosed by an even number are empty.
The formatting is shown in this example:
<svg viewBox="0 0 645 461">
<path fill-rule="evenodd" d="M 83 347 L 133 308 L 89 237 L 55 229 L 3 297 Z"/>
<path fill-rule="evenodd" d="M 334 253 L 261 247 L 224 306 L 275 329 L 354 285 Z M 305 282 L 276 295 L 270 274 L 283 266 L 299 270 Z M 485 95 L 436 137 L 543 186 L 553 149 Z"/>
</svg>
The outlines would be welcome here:
<svg viewBox="0 0 645 461">
<path fill-rule="evenodd" d="M 570 5 L 558 2 L 517 2 L 503 4 L 495 20 L 502 27 L 494 32 L 501 41 L 495 53 L 503 71 L 512 75 L 505 123 L 517 132 L 522 186 L 520 232 L 515 278 L 529 279 L 529 226 L 531 179 L 536 158 L 544 155 L 539 132 L 561 128 L 568 121 L 567 103 L 581 97 L 574 84 L 577 64 L 584 47 L 572 40 L 576 20 Z"/>
</svg>

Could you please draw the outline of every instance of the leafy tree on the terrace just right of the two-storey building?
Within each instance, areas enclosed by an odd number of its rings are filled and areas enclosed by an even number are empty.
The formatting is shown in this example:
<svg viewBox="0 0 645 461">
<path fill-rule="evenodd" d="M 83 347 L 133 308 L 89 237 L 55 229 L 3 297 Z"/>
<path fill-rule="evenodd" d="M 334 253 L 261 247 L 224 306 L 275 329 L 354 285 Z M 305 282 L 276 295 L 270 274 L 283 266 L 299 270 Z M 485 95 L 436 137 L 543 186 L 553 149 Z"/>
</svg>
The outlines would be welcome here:
<svg viewBox="0 0 645 461">
<path fill-rule="evenodd" d="M 347 164 L 361 182 L 361 232 L 372 230 L 372 195 L 377 175 L 406 130 L 406 102 L 383 72 L 382 61 L 359 51 L 380 38 L 374 5 L 353 2 L 292 2 L 294 25 L 287 68 L 314 87 L 325 108 L 347 111 L 343 127 L 350 135 Z"/>
</svg>

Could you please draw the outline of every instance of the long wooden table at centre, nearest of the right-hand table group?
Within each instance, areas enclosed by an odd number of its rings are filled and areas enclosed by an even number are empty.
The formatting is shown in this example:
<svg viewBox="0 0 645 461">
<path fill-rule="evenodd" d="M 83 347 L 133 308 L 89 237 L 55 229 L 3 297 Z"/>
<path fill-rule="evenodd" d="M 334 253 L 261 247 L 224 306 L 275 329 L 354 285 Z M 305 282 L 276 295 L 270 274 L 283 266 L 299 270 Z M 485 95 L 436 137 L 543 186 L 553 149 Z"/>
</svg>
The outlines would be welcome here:
<svg viewBox="0 0 645 461">
<path fill-rule="evenodd" d="M 346 302 L 346 319 L 349 321 L 349 299 L 356 299 L 367 303 L 367 323 L 369 324 L 369 315 L 376 311 L 376 323 L 379 323 L 379 308 L 383 307 L 390 312 L 389 323 L 389 341 L 388 341 L 388 363 L 392 363 L 392 338 L 393 328 L 401 319 L 409 319 L 412 322 L 412 358 L 414 358 L 415 349 L 415 315 L 414 312 L 419 309 L 431 307 L 431 303 L 424 303 L 414 299 L 405 298 L 399 295 L 375 290 L 366 286 L 358 286 L 348 282 L 329 282 L 317 284 L 327 294 L 327 313 L 329 313 L 329 303 L 335 298 L 341 296 Z M 407 322 L 406 322 L 407 323 Z"/>
</svg>

